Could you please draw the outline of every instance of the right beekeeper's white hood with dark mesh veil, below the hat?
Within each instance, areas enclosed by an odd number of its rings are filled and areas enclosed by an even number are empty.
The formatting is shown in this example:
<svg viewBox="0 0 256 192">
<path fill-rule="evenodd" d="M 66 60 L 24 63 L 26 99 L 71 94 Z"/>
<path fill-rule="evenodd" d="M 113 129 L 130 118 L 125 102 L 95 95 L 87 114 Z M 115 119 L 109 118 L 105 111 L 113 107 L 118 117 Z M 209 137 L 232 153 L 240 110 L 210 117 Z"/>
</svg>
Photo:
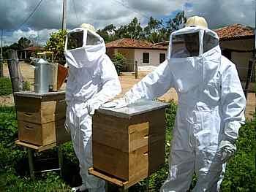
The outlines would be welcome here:
<svg viewBox="0 0 256 192">
<path fill-rule="evenodd" d="M 167 61 L 181 93 L 207 83 L 219 67 L 219 37 L 206 27 L 187 25 L 170 35 Z"/>
</svg>

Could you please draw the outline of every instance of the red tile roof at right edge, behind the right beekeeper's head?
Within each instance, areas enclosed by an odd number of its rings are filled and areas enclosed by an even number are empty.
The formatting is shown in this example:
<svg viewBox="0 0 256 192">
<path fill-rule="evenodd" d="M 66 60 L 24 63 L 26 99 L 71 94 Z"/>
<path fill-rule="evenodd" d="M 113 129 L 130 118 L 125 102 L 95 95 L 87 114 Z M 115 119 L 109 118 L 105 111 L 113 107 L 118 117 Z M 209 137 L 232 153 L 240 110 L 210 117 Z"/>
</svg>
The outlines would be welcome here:
<svg viewBox="0 0 256 192">
<path fill-rule="evenodd" d="M 251 39 L 255 37 L 255 31 L 249 26 L 241 24 L 233 24 L 214 30 L 219 36 L 219 40 L 233 40 L 233 39 Z"/>
</svg>

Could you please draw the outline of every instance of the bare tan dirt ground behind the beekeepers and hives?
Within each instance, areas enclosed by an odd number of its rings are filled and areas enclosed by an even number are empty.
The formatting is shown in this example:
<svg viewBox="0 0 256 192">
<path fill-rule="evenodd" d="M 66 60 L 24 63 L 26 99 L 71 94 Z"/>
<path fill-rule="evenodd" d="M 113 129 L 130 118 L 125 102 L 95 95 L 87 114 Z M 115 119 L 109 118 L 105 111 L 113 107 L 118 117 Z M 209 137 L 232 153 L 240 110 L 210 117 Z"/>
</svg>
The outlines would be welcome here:
<svg viewBox="0 0 256 192">
<path fill-rule="evenodd" d="M 26 64 L 24 62 L 20 62 L 20 71 L 21 74 L 23 75 L 23 79 L 25 81 L 30 82 L 31 84 L 31 90 L 34 89 L 34 68 L 31 66 L 31 64 Z M 119 80 L 121 82 L 122 86 L 122 93 L 119 94 L 117 97 L 120 97 L 124 95 L 125 92 L 129 90 L 129 88 L 132 88 L 135 83 L 139 82 L 143 77 L 146 76 L 148 72 L 139 72 L 138 73 L 138 79 L 135 79 L 134 74 L 126 73 L 122 74 L 119 77 Z M 9 77 L 9 72 L 7 68 L 7 64 L 4 64 L 4 77 Z M 253 87 L 254 85 L 251 85 Z M 61 87 L 61 89 L 65 89 L 65 85 Z M 253 89 L 253 88 L 251 88 Z M 173 100 L 175 102 L 178 101 L 178 96 L 176 91 L 172 88 L 167 93 L 165 93 L 164 96 L 161 96 L 158 98 L 160 101 L 170 101 Z M 247 96 L 247 103 L 246 103 L 246 118 L 252 119 L 252 115 L 255 112 L 255 104 L 256 104 L 256 99 L 255 99 L 255 93 L 248 93 Z M 7 105 L 11 106 L 14 105 L 14 100 L 13 96 L 0 96 L 0 105 Z"/>
</svg>

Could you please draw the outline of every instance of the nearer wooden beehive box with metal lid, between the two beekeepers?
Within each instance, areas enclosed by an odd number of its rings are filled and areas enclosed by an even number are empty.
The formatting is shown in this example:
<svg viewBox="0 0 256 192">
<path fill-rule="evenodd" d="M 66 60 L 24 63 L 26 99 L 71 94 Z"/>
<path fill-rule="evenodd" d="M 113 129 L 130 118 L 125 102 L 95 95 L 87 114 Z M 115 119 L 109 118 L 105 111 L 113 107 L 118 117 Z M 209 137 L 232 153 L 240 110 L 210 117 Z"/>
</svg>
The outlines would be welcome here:
<svg viewBox="0 0 256 192">
<path fill-rule="evenodd" d="M 168 105 L 139 101 L 121 109 L 97 110 L 93 117 L 91 174 L 110 182 L 116 179 L 129 187 L 165 164 Z"/>
</svg>

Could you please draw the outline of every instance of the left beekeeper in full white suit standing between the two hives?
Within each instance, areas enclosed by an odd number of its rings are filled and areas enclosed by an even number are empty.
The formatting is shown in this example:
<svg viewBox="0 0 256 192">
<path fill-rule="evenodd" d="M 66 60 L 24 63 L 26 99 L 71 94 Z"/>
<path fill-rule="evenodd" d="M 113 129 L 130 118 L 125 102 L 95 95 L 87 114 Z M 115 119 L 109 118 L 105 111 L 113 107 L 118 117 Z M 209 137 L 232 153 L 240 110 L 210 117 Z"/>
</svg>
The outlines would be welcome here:
<svg viewBox="0 0 256 192">
<path fill-rule="evenodd" d="M 88 173 L 92 166 L 91 115 L 121 92 L 115 66 L 105 54 L 105 42 L 89 24 L 67 34 L 65 58 L 69 66 L 66 86 L 67 115 L 83 185 L 72 191 L 105 191 L 105 182 Z"/>
</svg>

